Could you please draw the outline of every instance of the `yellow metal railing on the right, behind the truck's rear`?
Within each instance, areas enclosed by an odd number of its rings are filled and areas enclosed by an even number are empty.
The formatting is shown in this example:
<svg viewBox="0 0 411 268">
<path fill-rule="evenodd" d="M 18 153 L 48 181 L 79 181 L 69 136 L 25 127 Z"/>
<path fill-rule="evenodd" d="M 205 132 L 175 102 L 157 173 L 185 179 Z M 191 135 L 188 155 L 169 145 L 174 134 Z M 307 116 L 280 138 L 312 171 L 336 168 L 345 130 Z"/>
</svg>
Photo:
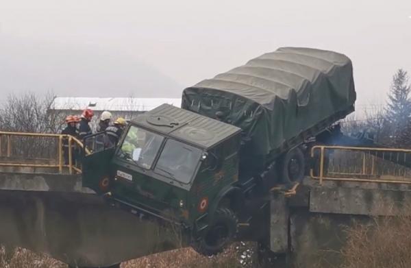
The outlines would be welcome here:
<svg viewBox="0 0 411 268">
<path fill-rule="evenodd" d="M 314 146 L 311 178 L 411 184 L 411 149 Z"/>
</svg>

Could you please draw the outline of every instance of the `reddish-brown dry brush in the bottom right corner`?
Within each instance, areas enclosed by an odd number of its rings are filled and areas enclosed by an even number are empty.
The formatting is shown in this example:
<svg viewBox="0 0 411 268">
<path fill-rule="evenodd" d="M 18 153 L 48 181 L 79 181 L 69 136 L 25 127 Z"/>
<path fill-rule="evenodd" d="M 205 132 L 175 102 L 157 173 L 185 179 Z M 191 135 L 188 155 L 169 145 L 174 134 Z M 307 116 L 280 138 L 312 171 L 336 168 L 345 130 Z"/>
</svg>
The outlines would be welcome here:
<svg viewBox="0 0 411 268">
<path fill-rule="evenodd" d="M 411 217 L 375 219 L 348 230 L 342 268 L 411 267 Z"/>
</svg>

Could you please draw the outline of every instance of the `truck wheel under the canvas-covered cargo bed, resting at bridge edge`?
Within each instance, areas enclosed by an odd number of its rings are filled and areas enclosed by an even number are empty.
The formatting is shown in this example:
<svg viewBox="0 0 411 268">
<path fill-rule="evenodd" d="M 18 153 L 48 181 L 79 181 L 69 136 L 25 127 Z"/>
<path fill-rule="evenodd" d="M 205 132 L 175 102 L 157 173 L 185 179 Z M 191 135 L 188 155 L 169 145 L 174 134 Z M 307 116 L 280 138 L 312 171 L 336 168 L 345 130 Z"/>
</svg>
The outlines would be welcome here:
<svg viewBox="0 0 411 268">
<path fill-rule="evenodd" d="M 280 178 L 285 184 L 302 182 L 306 171 L 306 159 L 301 149 L 296 147 L 284 154 L 278 168 Z"/>
</svg>

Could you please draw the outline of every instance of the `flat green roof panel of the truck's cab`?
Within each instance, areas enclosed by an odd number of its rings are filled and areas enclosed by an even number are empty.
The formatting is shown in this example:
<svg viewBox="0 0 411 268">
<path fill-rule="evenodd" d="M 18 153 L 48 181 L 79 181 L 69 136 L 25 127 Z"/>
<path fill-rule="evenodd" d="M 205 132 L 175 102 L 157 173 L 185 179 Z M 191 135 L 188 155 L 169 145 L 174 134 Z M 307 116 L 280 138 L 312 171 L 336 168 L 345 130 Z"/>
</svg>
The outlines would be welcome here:
<svg viewBox="0 0 411 268">
<path fill-rule="evenodd" d="M 132 123 L 206 149 L 241 132 L 234 125 L 169 104 L 139 114 Z"/>
</svg>

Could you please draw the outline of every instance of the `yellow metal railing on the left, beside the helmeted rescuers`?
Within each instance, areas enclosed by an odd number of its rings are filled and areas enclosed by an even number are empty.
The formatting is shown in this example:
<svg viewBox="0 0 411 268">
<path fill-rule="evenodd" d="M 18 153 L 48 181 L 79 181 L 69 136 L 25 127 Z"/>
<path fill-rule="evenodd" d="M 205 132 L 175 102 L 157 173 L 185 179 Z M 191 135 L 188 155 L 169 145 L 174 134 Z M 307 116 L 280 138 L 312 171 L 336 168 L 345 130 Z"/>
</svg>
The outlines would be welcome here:
<svg viewBox="0 0 411 268">
<path fill-rule="evenodd" d="M 59 173 L 67 169 L 70 174 L 81 173 L 73 154 L 79 156 L 82 149 L 82 142 L 70 135 L 0 132 L 0 167 L 58 168 Z"/>
</svg>

